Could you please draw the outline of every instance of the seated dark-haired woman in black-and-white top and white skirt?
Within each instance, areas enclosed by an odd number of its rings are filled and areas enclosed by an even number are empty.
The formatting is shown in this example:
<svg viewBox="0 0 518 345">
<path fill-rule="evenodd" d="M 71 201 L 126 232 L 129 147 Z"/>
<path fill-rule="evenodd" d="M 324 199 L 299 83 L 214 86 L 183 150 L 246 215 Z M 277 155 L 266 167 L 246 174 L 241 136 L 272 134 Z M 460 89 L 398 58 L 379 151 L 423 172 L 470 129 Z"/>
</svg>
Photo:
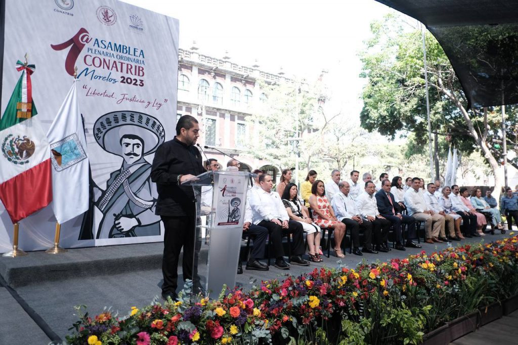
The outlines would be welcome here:
<svg viewBox="0 0 518 345">
<path fill-rule="evenodd" d="M 320 228 L 309 218 L 308 209 L 300 204 L 298 190 L 295 183 L 288 183 L 282 193 L 282 203 L 288 212 L 291 220 L 302 224 L 306 232 L 309 247 L 309 260 L 312 262 L 322 262 L 318 248 L 320 247 Z"/>
</svg>

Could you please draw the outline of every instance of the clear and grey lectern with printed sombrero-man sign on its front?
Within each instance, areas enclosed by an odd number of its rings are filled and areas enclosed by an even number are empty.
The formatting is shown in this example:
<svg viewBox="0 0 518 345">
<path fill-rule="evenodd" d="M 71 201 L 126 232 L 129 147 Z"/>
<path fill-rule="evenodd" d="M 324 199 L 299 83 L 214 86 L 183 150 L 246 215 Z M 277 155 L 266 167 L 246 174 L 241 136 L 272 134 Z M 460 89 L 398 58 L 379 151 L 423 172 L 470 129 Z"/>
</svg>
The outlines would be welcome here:
<svg viewBox="0 0 518 345">
<path fill-rule="evenodd" d="M 197 202 L 195 231 L 194 272 L 201 286 L 211 298 L 218 297 L 223 285 L 233 288 L 243 232 L 243 218 L 249 172 L 208 171 L 182 184 L 192 185 Z M 201 189 L 199 186 L 203 186 Z M 202 199 L 211 193 L 212 203 L 207 214 L 208 225 L 202 224 L 200 210 Z M 207 229 L 206 241 L 202 244 L 202 228 Z M 194 278 L 196 281 L 196 278 Z"/>
</svg>

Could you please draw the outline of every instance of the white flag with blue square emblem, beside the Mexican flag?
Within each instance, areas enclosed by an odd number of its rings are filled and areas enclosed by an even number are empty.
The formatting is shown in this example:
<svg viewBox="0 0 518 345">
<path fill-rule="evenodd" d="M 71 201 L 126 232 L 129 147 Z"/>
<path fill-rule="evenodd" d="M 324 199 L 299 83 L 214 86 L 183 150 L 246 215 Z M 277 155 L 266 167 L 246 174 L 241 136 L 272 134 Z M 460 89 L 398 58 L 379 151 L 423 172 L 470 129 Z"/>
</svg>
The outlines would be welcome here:
<svg viewBox="0 0 518 345">
<path fill-rule="evenodd" d="M 52 209 L 60 224 L 88 210 L 87 140 L 77 100 L 76 81 L 50 125 Z"/>
</svg>

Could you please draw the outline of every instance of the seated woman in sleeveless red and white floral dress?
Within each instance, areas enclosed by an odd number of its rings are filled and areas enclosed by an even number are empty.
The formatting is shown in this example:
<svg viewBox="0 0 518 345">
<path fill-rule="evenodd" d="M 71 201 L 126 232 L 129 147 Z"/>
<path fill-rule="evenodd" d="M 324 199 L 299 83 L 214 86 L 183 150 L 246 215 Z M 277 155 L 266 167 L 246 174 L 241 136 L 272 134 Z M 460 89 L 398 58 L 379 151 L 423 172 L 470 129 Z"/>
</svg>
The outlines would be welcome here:
<svg viewBox="0 0 518 345">
<path fill-rule="evenodd" d="M 343 236 L 346 234 L 346 225 L 336 219 L 333 208 L 325 196 L 325 187 L 322 180 L 316 180 L 311 186 L 309 205 L 313 210 L 313 223 L 320 227 L 333 228 L 335 233 L 335 255 L 337 257 L 346 257 L 341 248 Z"/>
</svg>

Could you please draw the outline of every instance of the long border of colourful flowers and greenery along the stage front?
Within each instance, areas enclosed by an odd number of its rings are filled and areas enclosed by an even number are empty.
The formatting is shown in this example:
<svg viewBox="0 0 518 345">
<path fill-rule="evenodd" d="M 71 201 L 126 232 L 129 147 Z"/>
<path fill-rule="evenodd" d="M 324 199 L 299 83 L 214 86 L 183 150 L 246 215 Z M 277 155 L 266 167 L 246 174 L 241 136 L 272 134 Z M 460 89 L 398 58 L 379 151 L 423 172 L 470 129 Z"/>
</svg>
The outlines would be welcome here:
<svg viewBox="0 0 518 345">
<path fill-rule="evenodd" d="M 69 344 L 419 343 L 426 332 L 518 293 L 518 237 L 321 268 L 218 299 L 185 291 L 125 317 L 81 313 Z M 84 306 L 77 307 L 82 311 Z"/>
</svg>

